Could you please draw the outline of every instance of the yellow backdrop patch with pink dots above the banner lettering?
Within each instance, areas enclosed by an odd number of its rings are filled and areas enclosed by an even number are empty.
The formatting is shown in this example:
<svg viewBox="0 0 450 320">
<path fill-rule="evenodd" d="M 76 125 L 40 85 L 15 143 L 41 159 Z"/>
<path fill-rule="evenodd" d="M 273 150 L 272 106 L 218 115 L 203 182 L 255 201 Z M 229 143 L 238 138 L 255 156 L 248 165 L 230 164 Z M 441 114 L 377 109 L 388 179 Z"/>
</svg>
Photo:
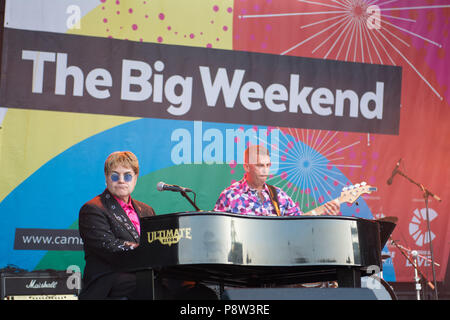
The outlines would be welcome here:
<svg viewBox="0 0 450 320">
<path fill-rule="evenodd" d="M 232 49 L 232 0 L 99 0 L 68 33 Z"/>
</svg>

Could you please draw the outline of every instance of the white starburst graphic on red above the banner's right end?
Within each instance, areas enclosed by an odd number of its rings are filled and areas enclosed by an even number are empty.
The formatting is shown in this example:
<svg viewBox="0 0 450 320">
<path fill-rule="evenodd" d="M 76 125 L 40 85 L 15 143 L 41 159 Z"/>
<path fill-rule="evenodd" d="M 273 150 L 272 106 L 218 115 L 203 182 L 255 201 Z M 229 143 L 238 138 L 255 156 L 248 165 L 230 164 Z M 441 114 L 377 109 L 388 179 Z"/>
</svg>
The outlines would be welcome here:
<svg viewBox="0 0 450 320">
<path fill-rule="evenodd" d="M 302 50 L 311 56 L 323 59 L 335 59 L 371 64 L 406 65 L 423 81 L 440 100 L 443 95 L 426 78 L 424 73 L 408 57 L 411 41 L 421 40 L 441 49 L 437 40 L 414 30 L 418 22 L 411 12 L 450 8 L 449 4 L 429 4 L 430 1 L 407 1 L 407 5 L 396 5 L 405 1 L 398 0 L 298 0 L 303 4 L 302 12 L 241 14 L 239 20 L 275 19 L 302 17 L 296 43 L 284 48 L 280 55 L 292 54 Z M 417 3 L 417 5 L 412 5 Z M 422 3 L 423 5 L 420 5 Z M 258 10 L 254 6 L 254 10 Z M 243 10 L 242 12 L 247 12 Z M 420 16 L 420 15 L 419 15 Z M 420 16 L 421 17 L 421 16 Z M 269 26 L 269 25 L 266 25 Z M 266 27 L 267 28 L 267 27 Z M 296 33 L 295 33 L 296 34 Z"/>
</svg>

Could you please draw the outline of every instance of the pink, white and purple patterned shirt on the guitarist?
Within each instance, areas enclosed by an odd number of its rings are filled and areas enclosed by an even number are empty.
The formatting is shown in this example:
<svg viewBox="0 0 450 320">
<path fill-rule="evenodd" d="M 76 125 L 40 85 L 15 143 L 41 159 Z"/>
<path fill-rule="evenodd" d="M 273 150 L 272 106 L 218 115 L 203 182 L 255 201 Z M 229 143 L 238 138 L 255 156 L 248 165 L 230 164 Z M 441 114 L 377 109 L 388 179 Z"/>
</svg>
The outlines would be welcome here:
<svg viewBox="0 0 450 320">
<path fill-rule="evenodd" d="M 301 215 L 299 207 L 286 192 L 275 187 L 282 216 Z M 264 184 L 261 200 L 256 190 L 251 189 L 243 178 L 222 191 L 216 202 L 214 211 L 239 213 L 243 215 L 276 216 L 275 208 L 270 200 L 269 187 Z"/>
</svg>

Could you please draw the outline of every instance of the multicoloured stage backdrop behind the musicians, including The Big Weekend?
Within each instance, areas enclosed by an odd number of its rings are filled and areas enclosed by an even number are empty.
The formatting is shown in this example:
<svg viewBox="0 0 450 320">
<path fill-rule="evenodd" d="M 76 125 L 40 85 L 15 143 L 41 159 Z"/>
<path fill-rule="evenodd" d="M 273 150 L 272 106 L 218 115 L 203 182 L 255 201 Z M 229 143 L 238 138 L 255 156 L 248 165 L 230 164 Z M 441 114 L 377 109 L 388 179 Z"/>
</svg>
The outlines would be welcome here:
<svg viewBox="0 0 450 320">
<path fill-rule="evenodd" d="M 421 190 L 399 175 L 386 183 L 401 159 L 402 172 L 442 199 L 429 203 L 442 281 L 449 15 L 446 0 L 7 1 L 0 267 L 84 266 L 78 210 L 104 190 L 113 151 L 138 156 L 133 197 L 166 214 L 192 208 L 157 182 L 189 187 L 201 209 L 212 209 L 242 177 L 245 146 L 263 143 L 274 163 L 269 182 L 302 210 L 366 181 L 378 191 L 342 205 L 342 214 L 395 216 L 393 239 L 430 258 Z M 126 79 L 124 60 L 134 66 Z M 209 66 L 209 82 L 200 66 Z M 145 88 L 145 97 L 134 95 Z M 413 281 L 398 249 L 383 250 L 391 255 L 385 280 Z M 419 265 L 432 279 L 429 261 Z"/>
</svg>

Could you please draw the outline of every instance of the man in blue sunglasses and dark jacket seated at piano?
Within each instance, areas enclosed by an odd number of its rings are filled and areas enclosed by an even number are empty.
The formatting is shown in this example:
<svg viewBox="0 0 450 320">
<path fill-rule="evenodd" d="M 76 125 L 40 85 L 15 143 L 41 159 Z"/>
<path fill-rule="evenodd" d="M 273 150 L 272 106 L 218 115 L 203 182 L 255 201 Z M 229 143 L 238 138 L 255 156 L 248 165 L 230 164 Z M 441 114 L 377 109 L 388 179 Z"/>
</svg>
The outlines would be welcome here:
<svg viewBox="0 0 450 320">
<path fill-rule="evenodd" d="M 104 166 L 105 191 L 80 209 L 79 231 L 86 266 L 79 299 L 134 298 L 136 274 L 118 268 L 124 253 L 140 239 L 140 218 L 154 216 L 149 205 L 131 198 L 139 163 L 129 151 L 108 156 Z"/>
</svg>

